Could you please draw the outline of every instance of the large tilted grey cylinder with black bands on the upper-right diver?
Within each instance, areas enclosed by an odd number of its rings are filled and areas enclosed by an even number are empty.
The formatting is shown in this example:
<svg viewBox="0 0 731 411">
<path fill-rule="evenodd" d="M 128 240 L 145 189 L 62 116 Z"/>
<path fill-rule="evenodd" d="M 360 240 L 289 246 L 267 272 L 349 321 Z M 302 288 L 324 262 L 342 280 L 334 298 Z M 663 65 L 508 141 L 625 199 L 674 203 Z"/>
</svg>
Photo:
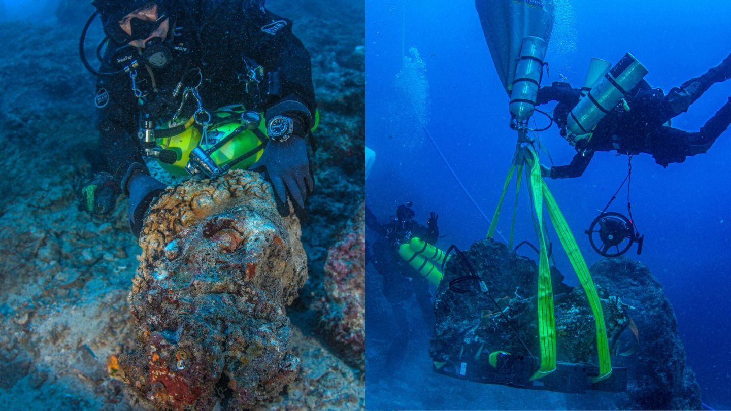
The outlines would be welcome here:
<svg viewBox="0 0 731 411">
<path fill-rule="evenodd" d="M 591 132 L 646 74 L 647 69 L 632 54 L 626 53 L 571 110 L 567 118 L 569 132 L 572 135 Z"/>
</svg>

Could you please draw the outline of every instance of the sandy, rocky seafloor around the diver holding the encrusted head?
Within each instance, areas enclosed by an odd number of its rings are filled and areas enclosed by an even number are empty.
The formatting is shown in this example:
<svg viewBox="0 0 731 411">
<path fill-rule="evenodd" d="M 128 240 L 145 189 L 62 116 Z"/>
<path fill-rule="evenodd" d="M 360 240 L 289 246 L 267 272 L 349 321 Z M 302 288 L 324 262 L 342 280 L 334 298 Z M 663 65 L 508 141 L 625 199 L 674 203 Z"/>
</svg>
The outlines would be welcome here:
<svg viewBox="0 0 731 411">
<path fill-rule="evenodd" d="M 322 114 L 317 188 L 303 223 L 309 279 L 289 309 L 302 377 L 267 407 L 360 409 L 363 372 L 333 353 L 308 306 L 322 292 L 327 249 L 364 198 L 364 4 L 267 5 L 295 20 L 295 33 L 312 56 Z M 126 227 L 126 200 L 111 216 L 91 217 L 77 210 L 72 192 L 97 135 L 94 78 L 77 57 L 87 2 L 81 9 L 58 26 L 0 27 L 6 45 L 0 59 L 3 410 L 145 409 L 105 367 L 110 355 L 133 343 L 126 298 L 140 248 Z"/>
</svg>

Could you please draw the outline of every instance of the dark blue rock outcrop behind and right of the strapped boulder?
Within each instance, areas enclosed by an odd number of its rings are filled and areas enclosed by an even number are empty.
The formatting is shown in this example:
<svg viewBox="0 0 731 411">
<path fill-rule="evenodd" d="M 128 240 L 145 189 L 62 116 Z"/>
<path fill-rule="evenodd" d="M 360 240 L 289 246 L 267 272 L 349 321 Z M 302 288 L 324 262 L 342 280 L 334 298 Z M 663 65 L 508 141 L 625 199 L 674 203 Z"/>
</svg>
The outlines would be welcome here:
<svg viewBox="0 0 731 411">
<path fill-rule="evenodd" d="M 591 276 L 627 304 L 626 313 L 637 324 L 639 343 L 634 354 L 613 358 L 613 366 L 629 369 L 626 393 L 569 397 L 568 406 L 575 410 L 702 410 L 700 388 L 695 373 L 686 366 L 675 312 L 662 284 L 642 263 L 619 258 L 594 264 Z"/>
</svg>

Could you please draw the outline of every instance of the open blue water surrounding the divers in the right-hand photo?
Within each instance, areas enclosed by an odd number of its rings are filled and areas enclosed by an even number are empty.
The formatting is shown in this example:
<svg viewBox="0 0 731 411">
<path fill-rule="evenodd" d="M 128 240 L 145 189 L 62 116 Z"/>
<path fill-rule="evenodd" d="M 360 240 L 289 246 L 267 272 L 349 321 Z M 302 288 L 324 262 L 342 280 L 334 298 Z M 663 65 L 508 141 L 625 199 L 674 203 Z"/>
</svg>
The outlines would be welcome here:
<svg viewBox="0 0 731 411">
<path fill-rule="evenodd" d="M 485 236 L 488 223 L 413 124 L 414 116 L 406 113 L 409 105 L 399 103 L 404 101 L 404 93 L 397 76 L 404 53 L 417 48 L 428 81 L 427 127 L 476 203 L 492 216 L 515 149 L 515 132 L 507 126 L 507 95 L 493 67 L 477 12 L 471 1 L 370 0 L 367 5 L 367 141 L 377 153 L 367 181 L 368 206 L 385 218 L 394 214 L 399 203 L 413 201 L 417 219 L 423 223 L 429 211 L 437 211 L 440 231 L 447 235 L 439 245 L 446 248 L 453 243 L 466 248 Z M 719 64 L 731 52 L 731 4 L 708 0 L 575 1 L 561 10 L 547 55 L 550 76 L 544 77 L 544 85 L 566 78 L 580 86 L 591 57 L 615 62 L 629 51 L 650 70 L 645 79 L 667 91 Z M 730 96 L 731 81 L 714 85 L 688 113 L 673 119 L 673 127 L 697 131 Z M 543 124 L 545 118 L 537 116 L 537 121 Z M 575 153 L 556 127 L 540 137 L 556 165 L 567 164 Z M 632 213 L 645 235 L 645 246 L 640 256 L 634 249 L 626 254 L 648 265 L 662 282 L 673 303 L 687 362 L 697 374 L 702 398 L 716 409 L 731 407 L 731 317 L 726 297 L 731 292 L 730 155 L 731 131 L 727 131 L 708 154 L 683 164 L 663 168 L 646 154 L 635 156 Z M 544 155 L 542 162 L 548 164 L 548 157 Z M 582 177 L 549 181 L 589 265 L 599 255 L 591 251 L 583 230 L 626 172 L 626 157 L 598 153 Z M 624 193 L 611 210 L 626 212 Z M 505 207 L 510 211 L 512 200 Z M 527 209 L 521 208 L 523 216 Z M 504 216 L 499 225 L 505 235 L 506 219 Z M 533 240 L 533 227 L 526 219 L 518 224 L 516 238 Z M 567 274 L 567 282 L 576 284 L 561 253 L 556 253 L 556 263 Z M 371 268 L 368 275 L 369 284 L 379 281 Z M 371 321 L 370 313 L 387 319 L 389 307 L 373 306 L 383 300 L 368 297 L 368 341 L 385 340 L 390 325 Z M 405 348 L 409 351 L 407 361 L 395 367 L 398 372 L 391 380 L 368 381 L 368 406 L 499 407 L 499 402 L 475 402 L 484 398 L 475 390 L 496 393 L 480 385 L 469 385 L 464 395 L 452 396 L 449 402 L 439 396 L 417 401 L 431 394 L 414 385 L 415 381 L 450 387 L 453 383 L 433 379 L 426 352 L 428 337 L 418 330 L 423 322 L 412 314 L 416 331 Z M 379 364 L 379 352 L 369 348 L 368 356 L 369 367 Z M 404 389 L 396 389 L 400 386 Z"/>
</svg>

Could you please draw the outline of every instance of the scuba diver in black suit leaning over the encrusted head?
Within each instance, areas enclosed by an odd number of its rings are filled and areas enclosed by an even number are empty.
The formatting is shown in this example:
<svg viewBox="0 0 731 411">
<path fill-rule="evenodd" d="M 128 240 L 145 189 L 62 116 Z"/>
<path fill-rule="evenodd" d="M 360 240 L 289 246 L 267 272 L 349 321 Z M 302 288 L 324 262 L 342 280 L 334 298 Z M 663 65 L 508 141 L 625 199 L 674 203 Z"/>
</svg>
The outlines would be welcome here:
<svg viewBox="0 0 731 411">
<path fill-rule="evenodd" d="M 254 124 L 249 129 L 259 133 L 257 150 L 265 147 L 249 169 L 264 172 L 280 214 L 289 214 L 287 193 L 295 211 L 303 211 L 314 189 L 308 157 L 316 112 L 310 56 L 292 34 L 292 21 L 267 10 L 264 2 L 92 2 L 96 12 L 83 30 L 80 52 L 84 66 L 99 78 L 94 103 L 103 164 L 78 184 L 80 208 L 107 214 L 124 193 L 129 196 L 130 228 L 139 236 L 151 203 L 166 187 L 150 176 L 143 156 L 167 164 L 180 159 L 155 139 L 163 133 L 175 136 L 193 123 L 206 139 L 212 134 L 206 130 L 213 110 L 243 105 L 252 110 L 244 114 L 255 118 L 242 115 L 241 122 Z M 98 70 L 83 53 L 96 15 L 105 33 L 98 56 L 106 46 Z M 258 129 L 259 113 L 265 113 L 266 136 Z M 208 177 L 227 170 L 211 164 L 205 154 L 195 157 L 199 167 L 186 167 L 192 176 L 204 169 Z"/>
</svg>

